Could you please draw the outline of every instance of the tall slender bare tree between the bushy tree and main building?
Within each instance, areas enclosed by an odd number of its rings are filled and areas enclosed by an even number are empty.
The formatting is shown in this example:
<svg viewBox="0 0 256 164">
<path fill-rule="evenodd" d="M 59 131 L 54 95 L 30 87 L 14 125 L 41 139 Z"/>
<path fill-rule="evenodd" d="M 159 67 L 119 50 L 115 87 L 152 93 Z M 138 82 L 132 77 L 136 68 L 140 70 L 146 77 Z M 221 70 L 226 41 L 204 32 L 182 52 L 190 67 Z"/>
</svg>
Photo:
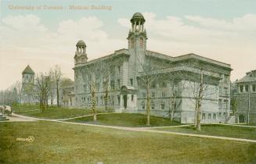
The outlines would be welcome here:
<svg viewBox="0 0 256 164">
<path fill-rule="evenodd" d="M 57 106 L 59 106 L 59 84 L 61 82 L 61 77 L 63 76 L 63 73 L 61 72 L 60 67 L 56 65 L 53 69 L 51 69 L 50 76 L 52 77 L 52 80 L 54 81 L 54 84 L 56 87 Z M 52 94 L 51 94 L 51 98 L 53 97 Z"/>
</svg>

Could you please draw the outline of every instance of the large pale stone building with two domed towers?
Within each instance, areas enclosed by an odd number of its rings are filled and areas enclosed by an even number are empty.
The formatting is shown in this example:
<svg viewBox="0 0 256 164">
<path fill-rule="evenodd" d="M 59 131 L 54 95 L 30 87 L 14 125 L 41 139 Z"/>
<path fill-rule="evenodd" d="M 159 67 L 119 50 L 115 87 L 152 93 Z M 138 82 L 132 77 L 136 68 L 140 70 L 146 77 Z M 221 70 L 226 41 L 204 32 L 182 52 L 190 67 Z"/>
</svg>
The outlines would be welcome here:
<svg viewBox="0 0 256 164">
<path fill-rule="evenodd" d="M 78 41 L 74 55 L 76 106 L 105 105 L 114 112 L 146 113 L 146 80 L 150 80 L 151 113 L 172 116 L 181 123 L 193 123 L 195 94 L 204 77 L 202 122 L 225 122 L 229 116 L 229 64 L 187 54 L 171 57 L 146 48 L 145 19 L 136 12 L 131 19 L 128 48 L 88 61 L 84 41 Z M 205 87 L 206 86 L 206 87 Z M 175 111 L 171 106 L 175 105 Z"/>
</svg>

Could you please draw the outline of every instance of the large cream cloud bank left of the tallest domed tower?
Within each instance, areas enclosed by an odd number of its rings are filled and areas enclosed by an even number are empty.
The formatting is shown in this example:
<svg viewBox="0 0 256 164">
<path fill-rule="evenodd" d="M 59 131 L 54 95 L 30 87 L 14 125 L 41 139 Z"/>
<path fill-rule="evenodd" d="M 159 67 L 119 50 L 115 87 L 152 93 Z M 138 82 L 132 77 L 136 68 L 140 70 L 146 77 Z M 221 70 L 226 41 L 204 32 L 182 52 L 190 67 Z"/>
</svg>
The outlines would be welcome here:
<svg viewBox="0 0 256 164">
<path fill-rule="evenodd" d="M 103 26 L 96 16 L 63 20 L 56 30 L 49 30 L 35 15 L 4 17 L 0 24 L 0 72 L 5 80 L 1 80 L 0 86 L 9 87 L 20 80 L 27 64 L 37 73 L 58 64 L 64 76 L 73 78 L 75 45 L 81 39 L 87 45 L 88 59 L 109 55 L 126 46 L 125 40 L 111 38 Z"/>
</svg>

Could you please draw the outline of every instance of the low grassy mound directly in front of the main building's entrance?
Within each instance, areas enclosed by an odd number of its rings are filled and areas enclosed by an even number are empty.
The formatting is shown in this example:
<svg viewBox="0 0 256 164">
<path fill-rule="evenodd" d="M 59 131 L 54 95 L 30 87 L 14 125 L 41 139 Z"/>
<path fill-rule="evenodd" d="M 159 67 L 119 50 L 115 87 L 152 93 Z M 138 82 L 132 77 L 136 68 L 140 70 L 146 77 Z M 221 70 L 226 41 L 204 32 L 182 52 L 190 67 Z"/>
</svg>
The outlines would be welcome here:
<svg viewBox="0 0 256 164">
<path fill-rule="evenodd" d="M 70 122 L 76 123 L 95 123 L 92 121 L 92 116 L 81 117 L 78 119 L 70 119 Z M 96 124 L 113 125 L 121 127 L 145 127 L 146 115 L 134 113 L 112 113 L 107 115 L 98 115 Z M 151 126 L 170 126 L 179 125 L 179 123 L 172 122 L 170 119 L 163 117 L 150 116 Z"/>
</svg>

